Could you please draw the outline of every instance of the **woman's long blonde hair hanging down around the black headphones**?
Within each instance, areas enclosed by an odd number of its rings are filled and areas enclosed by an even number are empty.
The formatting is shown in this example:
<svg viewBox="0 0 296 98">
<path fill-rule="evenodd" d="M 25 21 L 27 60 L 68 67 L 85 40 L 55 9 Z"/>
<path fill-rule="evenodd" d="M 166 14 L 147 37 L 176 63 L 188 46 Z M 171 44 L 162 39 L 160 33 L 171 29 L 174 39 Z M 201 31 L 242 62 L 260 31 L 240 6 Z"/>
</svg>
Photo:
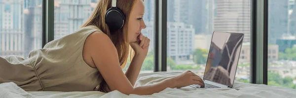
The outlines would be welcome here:
<svg viewBox="0 0 296 98">
<path fill-rule="evenodd" d="M 117 49 L 119 63 L 123 69 L 127 63 L 129 53 L 131 58 L 134 54 L 128 42 L 127 24 L 135 0 L 117 0 L 117 7 L 125 14 L 126 19 L 122 29 L 114 32 L 110 32 L 108 25 L 105 24 L 105 13 L 111 8 L 111 1 L 112 0 L 100 0 L 89 19 L 81 27 L 95 25 L 107 34 Z M 98 91 L 105 93 L 111 92 L 104 78 L 100 83 Z"/>
</svg>

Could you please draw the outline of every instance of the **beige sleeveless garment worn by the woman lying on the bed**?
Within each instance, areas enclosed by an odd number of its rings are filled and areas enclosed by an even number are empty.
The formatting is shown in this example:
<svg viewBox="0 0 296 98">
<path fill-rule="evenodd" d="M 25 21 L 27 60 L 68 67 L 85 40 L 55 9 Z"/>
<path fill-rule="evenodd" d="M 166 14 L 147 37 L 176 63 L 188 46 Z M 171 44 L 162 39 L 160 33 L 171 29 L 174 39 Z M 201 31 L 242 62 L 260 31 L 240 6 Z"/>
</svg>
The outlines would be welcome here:
<svg viewBox="0 0 296 98">
<path fill-rule="evenodd" d="M 83 27 L 29 53 L 29 59 L 0 57 L 0 83 L 14 82 L 26 91 L 93 91 L 102 76 L 82 57 L 84 42 L 96 26 Z"/>
</svg>

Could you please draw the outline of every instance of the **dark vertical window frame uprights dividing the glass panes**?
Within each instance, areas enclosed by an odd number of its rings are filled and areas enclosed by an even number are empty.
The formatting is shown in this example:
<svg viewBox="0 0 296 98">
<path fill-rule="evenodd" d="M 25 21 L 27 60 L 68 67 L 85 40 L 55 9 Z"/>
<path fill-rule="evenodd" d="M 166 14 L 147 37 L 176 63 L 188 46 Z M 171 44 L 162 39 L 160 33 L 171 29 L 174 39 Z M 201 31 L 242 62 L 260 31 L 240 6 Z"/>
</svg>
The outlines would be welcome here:
<svg viewBox="0 0 296 98">
<path fill-rule="evenodd" d="M 154 72 L 167 70 L 167 2 L 154 0 Z M 251 0 L 250 83 L 267 84 L 268 0 Z M 165 28 L 165 29 L 162 29 Z M 54 0 L 42 2 L 42 48 L 54 40 Z"/>
</svg>

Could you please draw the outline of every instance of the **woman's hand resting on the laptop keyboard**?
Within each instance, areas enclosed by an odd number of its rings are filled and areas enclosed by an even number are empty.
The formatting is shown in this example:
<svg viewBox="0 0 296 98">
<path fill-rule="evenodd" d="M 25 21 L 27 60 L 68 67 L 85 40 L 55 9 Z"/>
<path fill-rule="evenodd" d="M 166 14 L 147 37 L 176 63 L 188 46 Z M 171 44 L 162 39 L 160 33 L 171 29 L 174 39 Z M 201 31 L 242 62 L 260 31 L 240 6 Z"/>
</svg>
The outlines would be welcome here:
<svg viewBox="0 0 296 98">
<path fill-rule="evenodd" d="M 186 71 L 185 73 L 172 77 L 169 80 L 174 83 L 175 88 L 181 88 L 192 84 L 198 84 L 202 87 L 205 86 L 204 81 L 191 71 Z"/>
</svg>

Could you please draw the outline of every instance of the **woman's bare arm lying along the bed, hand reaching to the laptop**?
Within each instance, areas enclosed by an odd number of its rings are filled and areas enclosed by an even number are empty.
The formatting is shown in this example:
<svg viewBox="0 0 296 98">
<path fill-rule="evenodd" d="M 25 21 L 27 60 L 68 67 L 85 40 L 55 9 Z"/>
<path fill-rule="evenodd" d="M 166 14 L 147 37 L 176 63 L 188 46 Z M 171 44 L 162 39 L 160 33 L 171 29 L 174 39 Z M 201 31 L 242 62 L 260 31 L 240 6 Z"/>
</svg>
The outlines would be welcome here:
<svg viewBox="0 0 296 98">
<path fill-rule="evenodd" d="M 158 93 L 167 87 L 174 88 L 201 83 L 197 81 L 201 80 L 201 78 L 193 76 L 192 74 L 194 73 L 186 72 L 185 75 L 181 74 L 179 77 L 169 78 L 157 84 L 134 88 L 121 70 L 117 50 L 110 38 L 102 32 L 94 32 L 87 39 L 86 43 L 91 46 L 88 49 L 91 52 L 92 60 L 111 91 L 118 90 L 126 95 L 149 95 Z M 191 80 L 190 82 L 188 81 L 189 79 Z"/>
</svg>

